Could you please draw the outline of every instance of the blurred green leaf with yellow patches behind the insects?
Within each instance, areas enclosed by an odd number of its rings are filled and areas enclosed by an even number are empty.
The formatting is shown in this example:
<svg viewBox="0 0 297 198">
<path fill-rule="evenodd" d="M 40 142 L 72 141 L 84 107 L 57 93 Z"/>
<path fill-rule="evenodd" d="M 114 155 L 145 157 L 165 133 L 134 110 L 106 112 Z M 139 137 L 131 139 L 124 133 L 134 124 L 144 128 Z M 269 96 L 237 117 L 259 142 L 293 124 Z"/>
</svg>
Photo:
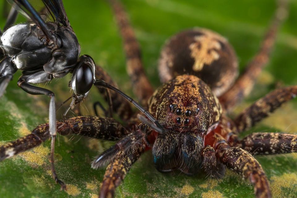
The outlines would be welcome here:
<svg viewBox="0 0 297 198">
<path fill-rule="evenodd" d="M 64 0 L 65 9 L 81 45 L 81 54 L 91 55 L 108 71 L 126 93 L 131 82 L 125 70 L 122 40 L 105 1 Z M 83 3 L 82 3 L 83 2 Z M 125 6 L 140 42 L 149 80 L 160 85 L 157 61 L 167 38 L 192 27 L 205 27 L 219 32 L 234 46 L 240 72 L 259 49 L 276 4 L 271 0 L 184 1 L 184 0 L 125 0 Z M 0 3 L 2 6 L 2 2 Z M 1 7 L 0 7 L 1 10 Z M 1 18 L 1 17 L 0 17 Z M 24 22 L 23 18 L 18 19 Z M 1 18 L 1 27 L 5 19 Z M 290 15 L 282 26 L 272 58 L 260 76 L 251 95 L 231 115 L 234 116 L 270 90 L 297 84 L 297 1 L 291 1 Z M 31 96 L 17 87 L 14 80 L 0 99 L 0 144 L 28 134 L 48 115 L 46 96 Z M 67 87 L 71 75 L 42 85 L 56 93 L 60 103 L 71 96 Z M 133 95 L 132 95 L 133 96 Z M 102 100 L 96 88 L 84 101 L 84 114 L 94 115 L 92 103 Z M 65 108 L 58 112 L 61 118 Z M 69 113 L 69 117 L 73 114 Z M 297 131 L 297 102 L 283 105 L 270 118 L 245 134 L 256 131 Z M 90 162 L 112 142 L 91 140 L 80 136 L 59 136 L 56 143 L 56 169 L 68 185 L 61 192 L 51 178 L 48 162 L 49 141 L 39 149 L 26 152 L 0 163 L 0 197 L 96 197 L 104 170 L 93 170 Z M 297 197 L 297 155 L 256 157 L 271 183 L 274 197 Z M 155 170 L 150 152 L 141 156 L 116 190 L 116 197 L 254 197 L 253 188 L 240 176 L 227 171 L 221 181 L 179 173 L 162 174 Z"/>
</svg>

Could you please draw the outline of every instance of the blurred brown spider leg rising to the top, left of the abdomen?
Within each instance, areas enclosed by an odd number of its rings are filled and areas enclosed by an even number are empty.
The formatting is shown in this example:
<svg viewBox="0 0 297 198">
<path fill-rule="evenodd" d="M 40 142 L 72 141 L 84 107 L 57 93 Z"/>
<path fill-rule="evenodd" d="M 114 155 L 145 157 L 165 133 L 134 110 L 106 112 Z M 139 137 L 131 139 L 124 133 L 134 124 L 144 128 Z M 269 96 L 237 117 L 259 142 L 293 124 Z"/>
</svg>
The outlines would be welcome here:
<svg viewBox="0 0 297 198">
<path fill-rule="evenodd" d="M 123 6 L 117 0 L 109 0 L 109 2 L 123 37 L 127 72 L 132 81 L 133 92 L 142 104 L 146 104 L 153 94 L 153 88 L 144 72 L 139 44 Z"/>
</svg>

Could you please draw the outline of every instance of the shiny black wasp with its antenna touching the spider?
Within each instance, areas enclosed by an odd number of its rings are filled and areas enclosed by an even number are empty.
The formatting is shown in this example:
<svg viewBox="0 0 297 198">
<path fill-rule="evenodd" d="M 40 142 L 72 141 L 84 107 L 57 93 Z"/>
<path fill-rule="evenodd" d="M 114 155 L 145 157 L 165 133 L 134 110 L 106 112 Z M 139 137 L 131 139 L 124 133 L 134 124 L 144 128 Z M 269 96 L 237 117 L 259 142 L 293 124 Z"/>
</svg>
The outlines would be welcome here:
<svg viewBox="0 0 297 198">
<path fill-rule="evenodd" d="M 125 97 L 155 123 L 157 129 L 164 131 L 157 120 L 131 97 L 102 80 L 96 80 L 93 58 L 88 55 L 79 57 L 80 45 L 70 26 L 62 0 L 40 0 L 44 4 L 43 17 L 28 0 L 10 1 L 12 10 L 6 20 L 5 27 L 14 23 L 17 17 L 16 11 L 25 15 L 32 22 L 17 24 L 8 29 L 4 28 L 5 31 L 1 32 L 0 97 L 18 69 L 23 71 L 18 80 L 20 88 L 29 94 L 43 94 L 50 97 L 50 163 L 54 179 L 62 188 L 65 188 L 65 184 L 58 179 L 54 169 L 54 142 L 57 127 L 54 93 L 32 84 L 49 82 L 54 78 L 62 78 L 71 72 L 73 75 L 69 87 L 74 94 L 70 107 L 80 103 L 88 95 L 94 84 L 97 87 L 112 89 Z M 47 19 L 51 19 L 50 21 L 44 20 L 44 13 L 46 13 Z"/>
</svg>

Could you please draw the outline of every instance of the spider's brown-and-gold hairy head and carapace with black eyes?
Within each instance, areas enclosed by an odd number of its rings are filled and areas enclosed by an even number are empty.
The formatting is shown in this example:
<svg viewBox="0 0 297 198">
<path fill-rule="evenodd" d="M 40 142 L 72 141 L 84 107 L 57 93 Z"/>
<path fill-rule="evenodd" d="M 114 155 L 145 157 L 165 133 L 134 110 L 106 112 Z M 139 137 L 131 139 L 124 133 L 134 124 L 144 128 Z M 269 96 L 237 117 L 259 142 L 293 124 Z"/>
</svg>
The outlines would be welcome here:
<svg viewBox="0 0 297 198">
<path fill-rule="evenodd" d="M 158 88 L 149 100 L 149 111 L 166 128 L 201 133 L 222 114 L 217 97 L 193 75 L 177 76 Z"/>
</svg>

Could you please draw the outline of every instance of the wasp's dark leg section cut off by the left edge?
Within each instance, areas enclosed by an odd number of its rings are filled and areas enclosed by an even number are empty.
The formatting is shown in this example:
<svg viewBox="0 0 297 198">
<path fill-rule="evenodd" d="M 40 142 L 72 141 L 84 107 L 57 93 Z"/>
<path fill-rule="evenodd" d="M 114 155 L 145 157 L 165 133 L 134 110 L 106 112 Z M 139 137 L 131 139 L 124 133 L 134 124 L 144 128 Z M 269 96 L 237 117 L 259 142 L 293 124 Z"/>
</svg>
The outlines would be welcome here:
<svg viewBox="0 0 297 198">
<path fill-rule="evenodd" d="M 4 94 L 8 83 L 17 70 L 10 57 L 6 57 L 0 62 L 0 97 Z"/>
</svg>

